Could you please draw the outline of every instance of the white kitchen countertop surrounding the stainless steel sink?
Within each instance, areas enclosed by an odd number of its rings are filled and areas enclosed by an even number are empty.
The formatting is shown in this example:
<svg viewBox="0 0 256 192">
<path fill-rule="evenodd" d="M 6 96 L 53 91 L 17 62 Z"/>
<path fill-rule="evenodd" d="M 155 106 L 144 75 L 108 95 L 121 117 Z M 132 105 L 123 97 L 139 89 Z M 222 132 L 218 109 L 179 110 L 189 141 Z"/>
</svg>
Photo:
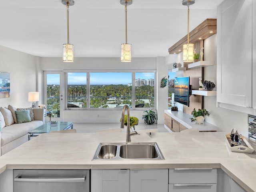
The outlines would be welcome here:
<svg viewBox="0 0 256 192">
<path fill-rule="evenodd" d="M 231 152 L 224 132 L 146 133 L 132 142 L 157 142 L 165 160 L 94 160 L 100 142 L 125 142 L 126 133 L 41 134 L 0 157 L 6 169 L 222 168 L 246 191 L 256 191 L 256 154 Z"/>
</svg>

